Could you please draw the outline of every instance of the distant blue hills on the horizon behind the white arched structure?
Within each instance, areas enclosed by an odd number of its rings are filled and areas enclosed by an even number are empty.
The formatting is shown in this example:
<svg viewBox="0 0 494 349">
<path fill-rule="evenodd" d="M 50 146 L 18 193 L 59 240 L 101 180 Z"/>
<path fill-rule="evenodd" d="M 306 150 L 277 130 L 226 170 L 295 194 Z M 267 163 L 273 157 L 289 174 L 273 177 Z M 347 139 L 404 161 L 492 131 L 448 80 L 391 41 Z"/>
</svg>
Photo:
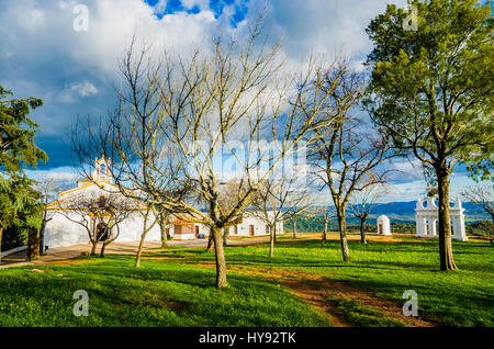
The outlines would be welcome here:
<svg viewBox="0 0 494 349">
<path fill-rule="evenodd" d="M 375 223 L 375 219 L 382 214 L 386 215 L 391 221 L 402 223 L 414 223 L 416 205 L 417 205 L 416 201 L 377 203 L 371 210 L 369 223 Z M 467 222 L 491 219 L 491 216 L 475 204 L 471 202 L 462 202 L 462 205 L 463 209 L 465 209 L 464 214 Z M 324 207 L 314 207 L 314 211 L 324 212 Z M 351 221 L 352 213 L 350 209 L 347 210 L 347 216 Z"/>
</svg>

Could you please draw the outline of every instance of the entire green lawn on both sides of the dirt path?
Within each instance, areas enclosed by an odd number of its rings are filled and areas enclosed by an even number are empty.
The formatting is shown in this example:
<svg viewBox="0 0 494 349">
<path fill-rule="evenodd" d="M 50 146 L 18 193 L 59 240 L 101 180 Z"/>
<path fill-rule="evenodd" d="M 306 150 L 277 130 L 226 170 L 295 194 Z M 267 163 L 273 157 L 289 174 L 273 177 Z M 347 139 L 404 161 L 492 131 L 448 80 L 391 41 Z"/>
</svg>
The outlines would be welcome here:
<svg viewBox="0 0 494 349">
<path fill-rule="evenodd" d="M 345 281 L 372 295 L 403 303 L 418 294 L 422 316 L 447 326 L 494 326 L 494 249 L 489 243 L 454 243 L 460 271 L 438 269 L 437 240 L 350 241 L 352 262 L 341 262 L 339 241 L 280 239 L 274 257 L 267 245 L 226 248 L 227 263 L 290 269 Z M 81 257 L 66 266 L 0 270 L 1 326 L 330 326 L 315 309 L 276 282 L 229 273 L 226 290 L 214 288 L 215 271 L 190 263 L 212 261 L 203 248 L 147 254 L 141 269 L 133 256 Z M 170 258 L 171 260 L 167 260 Z M 182 260 L 186 263 L 179 263 Z M 63 274 L 63 277 L 60 277 Z M 68 278 L 68 279 L 67 279 Z M 89 293 L 89 317 L 72 315 L 76 290 Z M 358 326 L 398 326 L 374 309 L 346 299 L 339 315 Z"/>
</svg>

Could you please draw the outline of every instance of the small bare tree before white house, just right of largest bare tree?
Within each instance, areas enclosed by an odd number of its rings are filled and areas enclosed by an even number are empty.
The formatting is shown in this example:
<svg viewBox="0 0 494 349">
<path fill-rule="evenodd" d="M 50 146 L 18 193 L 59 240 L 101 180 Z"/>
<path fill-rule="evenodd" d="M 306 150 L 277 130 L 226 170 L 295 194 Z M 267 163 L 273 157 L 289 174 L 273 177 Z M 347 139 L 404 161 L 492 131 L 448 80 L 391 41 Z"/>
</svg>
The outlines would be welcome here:
<svg viewBox="0 0 494 349">
<path fill-rule="evenodd" d="M 276 176 L 260 187 L 252 202 L 256 210 L 252 214 L 269 226 L 270 258 L 274 252 L 278 223 L 295 219 L 311 204 L 308 188 L 296 176 Z"/>
</svg>

